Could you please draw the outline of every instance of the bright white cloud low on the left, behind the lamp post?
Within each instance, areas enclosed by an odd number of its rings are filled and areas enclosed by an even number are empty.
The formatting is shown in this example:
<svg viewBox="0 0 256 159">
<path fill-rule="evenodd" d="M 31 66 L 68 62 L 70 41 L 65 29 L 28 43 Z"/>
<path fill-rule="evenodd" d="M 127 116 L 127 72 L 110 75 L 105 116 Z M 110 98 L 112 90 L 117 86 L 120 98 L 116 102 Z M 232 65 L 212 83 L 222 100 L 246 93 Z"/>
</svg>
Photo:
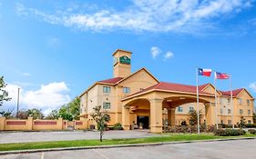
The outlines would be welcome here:
<svg viewBox="0 0 256 159">
<path fill-rule="evenodd" d="M 17 101 L 17 88 L 20 87 L 16 84 L 8 84 L 6 90 L 12 100 L 4 103 L 3 108 L 15 108 Z M 36 91 L 27 91 L 21 88 L 20 92 L 20 106 L 24 109 L 37 108 L 42 109 L 45 114 L 51 110 L 58 108 L 62 104 L 67 104 L 70 97 L 67 94 L 69 89 L 65 82 L 50 83 L 41 85 L 40 89 Z"/>
</svg>

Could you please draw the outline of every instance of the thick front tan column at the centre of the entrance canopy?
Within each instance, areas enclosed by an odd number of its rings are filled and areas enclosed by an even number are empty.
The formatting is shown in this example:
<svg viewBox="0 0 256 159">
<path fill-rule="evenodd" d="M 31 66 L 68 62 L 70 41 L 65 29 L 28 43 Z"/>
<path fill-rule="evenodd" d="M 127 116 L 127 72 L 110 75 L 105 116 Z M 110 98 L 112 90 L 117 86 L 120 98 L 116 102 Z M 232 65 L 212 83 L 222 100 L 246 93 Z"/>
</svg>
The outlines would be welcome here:
<svg viewBox="0 0 256 159">
<path fill-rule="evenodd" d="M 162 99 L 150 100 L 150 132 L 162 133 Z"/>
</svg>

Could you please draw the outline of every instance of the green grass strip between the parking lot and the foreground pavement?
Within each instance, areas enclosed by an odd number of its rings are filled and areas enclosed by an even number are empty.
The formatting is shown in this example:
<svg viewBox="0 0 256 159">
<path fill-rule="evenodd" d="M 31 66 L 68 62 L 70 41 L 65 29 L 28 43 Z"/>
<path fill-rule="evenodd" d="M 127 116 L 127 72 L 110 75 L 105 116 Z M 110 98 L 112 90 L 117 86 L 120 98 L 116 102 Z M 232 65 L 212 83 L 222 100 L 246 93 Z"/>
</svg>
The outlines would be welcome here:
<svg viewBox="0 0 256 159">
<path fill-rule="evenodd" d="M 146 144 L 146 143 L 210 140 L 210 139 L 241 138 L 241 137 L 256 137 L 256 135 L 246 134 L 242 136 L 221 137 L 221 136 L 215 136 L 213 134 L 162 134 L 161 136 L 158 136 L 158 137 L 146 137 L 146 138 L 135 138 L 135 139 L 109 139 L 109 140 L 103 140 L 102 143 L 99 142 L 99 140 L 75 140 L 75 141 L 0 144 L 0 151 L 57 148 L 57 147 L 78 147 L 78 146 L 93 146 L 93 145 L 111 145 L 111 144 L 112 145 L 113 144 Z"/>
</svg>

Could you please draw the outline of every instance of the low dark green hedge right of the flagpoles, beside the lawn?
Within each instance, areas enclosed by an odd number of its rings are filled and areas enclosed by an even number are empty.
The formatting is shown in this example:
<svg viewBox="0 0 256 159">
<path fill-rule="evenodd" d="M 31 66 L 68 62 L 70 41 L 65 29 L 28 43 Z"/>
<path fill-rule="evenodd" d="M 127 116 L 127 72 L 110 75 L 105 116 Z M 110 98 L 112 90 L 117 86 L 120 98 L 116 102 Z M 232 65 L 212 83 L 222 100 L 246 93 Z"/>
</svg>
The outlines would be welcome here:
<svg viewBox="0 0 256 159">
<path fill-rule="evenodd" d="M 220 136 L 236 136 L 244 135 L 246 132 L 242 129 L 218 129 L 214 131 L 214 134 Z"/>
</svg>

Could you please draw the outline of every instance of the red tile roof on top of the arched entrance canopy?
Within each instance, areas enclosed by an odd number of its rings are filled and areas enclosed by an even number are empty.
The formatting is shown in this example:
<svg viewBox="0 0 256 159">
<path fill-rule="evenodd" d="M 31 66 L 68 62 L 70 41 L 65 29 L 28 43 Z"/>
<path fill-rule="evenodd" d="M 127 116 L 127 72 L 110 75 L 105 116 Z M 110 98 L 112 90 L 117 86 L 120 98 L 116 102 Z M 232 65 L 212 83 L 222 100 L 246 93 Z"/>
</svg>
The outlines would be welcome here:
<svg viewBox="0 0 256 159">
<path fill-rule="evenodd" d="M 199 93 L 200 94 L 208 94 L 203 91 L 201 91 L 206 85 L 208 84 L 203 84 L 199 85 Z M 175 92 L 184 92 L 184 93 L 197 93 L 197 86 L 195 85 L 186 85 L 186 84 L 172 84 L 172 83 L 166 83 L 166 82 L 160 82 L 159 84 L 155 84 L 152 86 L 149 86 L 146 89 L 143 89 L 135 94 L 142 94 L 145 93 L 149 90 L 164 90 L 164 91 L 175 91 Z M 129 96 L 135 95 L 131 94 Z"/>
</svg>

